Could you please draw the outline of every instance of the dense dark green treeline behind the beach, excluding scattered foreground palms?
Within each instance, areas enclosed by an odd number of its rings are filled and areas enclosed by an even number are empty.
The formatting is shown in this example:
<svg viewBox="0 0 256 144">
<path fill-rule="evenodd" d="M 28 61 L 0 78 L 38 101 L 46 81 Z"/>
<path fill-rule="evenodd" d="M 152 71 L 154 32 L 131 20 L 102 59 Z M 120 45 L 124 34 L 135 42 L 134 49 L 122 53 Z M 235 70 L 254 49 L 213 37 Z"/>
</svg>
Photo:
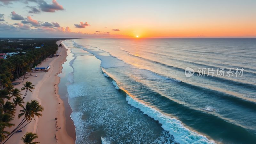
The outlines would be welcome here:
<svg viewBox="0 0 256 144">
<path fill-rule="evenodd" d="M 50 55 L 56 54 L 57 50 L 57 44 L 48 43 L 40 49 L 28 51 L 26 54 L 14 55 L 6 60 L 0 59 L 0 89 L 8 87 L 8 85 L 12 84 L 12 81 L 20 76 L 24 80 L 26 74 L 32 75 L 32 68 L 43 62 Z"/>
</svg>

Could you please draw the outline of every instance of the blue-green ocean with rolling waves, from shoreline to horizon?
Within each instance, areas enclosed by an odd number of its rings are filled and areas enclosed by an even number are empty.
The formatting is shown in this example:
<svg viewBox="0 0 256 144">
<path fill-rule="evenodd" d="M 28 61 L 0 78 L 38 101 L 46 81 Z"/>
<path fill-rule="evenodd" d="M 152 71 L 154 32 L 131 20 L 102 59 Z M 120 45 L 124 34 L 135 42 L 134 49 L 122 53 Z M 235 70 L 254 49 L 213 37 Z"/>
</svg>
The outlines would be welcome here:
<svg viewBox="0 0 256 144">
<path fill-rule="evenodd" d="M 63 44 L 77 144 L 256 142 L 255 38 Z"/>
</svg>

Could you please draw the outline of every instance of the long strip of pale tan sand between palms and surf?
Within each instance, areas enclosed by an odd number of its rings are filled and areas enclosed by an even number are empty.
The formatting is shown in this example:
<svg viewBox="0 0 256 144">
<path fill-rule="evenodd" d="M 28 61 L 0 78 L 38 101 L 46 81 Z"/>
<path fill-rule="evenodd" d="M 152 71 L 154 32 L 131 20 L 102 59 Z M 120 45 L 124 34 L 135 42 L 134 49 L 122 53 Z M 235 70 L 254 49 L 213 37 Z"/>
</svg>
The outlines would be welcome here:
<svg viewBox="0 0 256 144">
<path fill-rule="evenodd" d="M 56 44 L 61 44 L 63 40 L 57 41 Z M 29 76 L 29 78 L 24 80 L 31 82 L 35 85 L 35 89 L 33 93 L 28 92 L 28 95 L 24 99 L 24 102 L 30 100 L 37 100 L 44 107 L 44 111 L 42 112 L 41 117 L 32 121 L 25 128 L 23 128 L 22 132 L 15 133 L 7 144 L 22 144 L 20 140 L 23 134 L 26 132 L 34 132 L 38 134 L 37 142 L 42 144 L 74 144 L 75 137 L 75 126 L 70 122 L 67 114 L 65 115 L 65 105 L 64 102 L 60 99 L 60 95 L 58 94 L 58 84 L 60 82 L 60 77 L 57 76 L 61 73 L 62 64 L 66 61 L 67 57 L 67 49 L 64 46 L 59 47 L 59 55 L 58 57 L 48 58 L 44 61 L 40 66 L 37 67 L 47 67 L 51 68 L 48 72 L 35 72 L 33 76 Z M 36 77 L 37 75 L 37 77 Z M 15 82 L 22 82 L 22 80 L 16 80 Z M 15 85 L 14 88 L 21 89 L 23 87 L 23 83 Z M 22 94 L 25 91 L 21 91 Z M 14 124 L 19 124 L 20 119 L 17 118 L 20 113 L 20 107 L 16 109 L 16 117 L 13 120 Z M 55 119 L 57 118 L 57 120 Z M 66 124 L 66 119 L 68 119 L 70 124 Z M 67 127 L 68 125 L 68 127 Z M 10 130 L 14 129 L 12 127 Z M 67 133 L 68 130 L 72 130 L 72 134 Z M 70 133 L 70 132 L 69 132 Z"/>
</svg>

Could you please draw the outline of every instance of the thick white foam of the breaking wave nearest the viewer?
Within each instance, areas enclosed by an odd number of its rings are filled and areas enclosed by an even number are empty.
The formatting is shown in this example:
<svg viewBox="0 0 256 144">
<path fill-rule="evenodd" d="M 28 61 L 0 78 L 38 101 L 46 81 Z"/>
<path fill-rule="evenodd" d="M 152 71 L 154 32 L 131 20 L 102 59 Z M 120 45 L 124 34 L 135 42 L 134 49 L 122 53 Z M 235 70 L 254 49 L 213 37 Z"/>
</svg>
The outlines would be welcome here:
<svg viewBox="0 0 256 144">
<path fill-rule="evenodd" d="M 181 122 L 175 118 L 163 115 L 158 110 L 148 107 L 145 104 L 138 102 L 137 100 L 132 99 L 128 94 L 126 94 L 126 100 L 128 104 L 135 108 L 139 108 L 144 114 L 149 117 L 154 118 L 162 124 L 164 130 L 168 131 L 173 135 L 174 140 L 180 144 L 213 144 L 215 143 L 212 140 L 208 140 L 205 136 L 200 135 L 196 132 L 188 130 Z"/>
</svg>

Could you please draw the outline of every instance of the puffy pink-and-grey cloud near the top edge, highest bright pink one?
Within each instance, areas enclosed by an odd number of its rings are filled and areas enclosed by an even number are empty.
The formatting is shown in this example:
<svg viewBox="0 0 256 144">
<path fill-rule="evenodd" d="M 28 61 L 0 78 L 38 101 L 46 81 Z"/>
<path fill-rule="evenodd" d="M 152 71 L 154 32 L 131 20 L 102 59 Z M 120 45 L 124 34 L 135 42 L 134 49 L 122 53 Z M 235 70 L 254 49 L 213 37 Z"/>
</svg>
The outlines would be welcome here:
<svg viewBox="0 0 256 144">
<path fill-rule="evenodd" d="M 47 4 L 45 1 L 41 1 L 41 3 L 39 4 L 39 8 L 43 11 L 43 12 L 55 12 L 58 10 L 64 10 L 63 6 L 60 5 L 57 0 L 52 0 L 52 4 Z"/>
</svg>

